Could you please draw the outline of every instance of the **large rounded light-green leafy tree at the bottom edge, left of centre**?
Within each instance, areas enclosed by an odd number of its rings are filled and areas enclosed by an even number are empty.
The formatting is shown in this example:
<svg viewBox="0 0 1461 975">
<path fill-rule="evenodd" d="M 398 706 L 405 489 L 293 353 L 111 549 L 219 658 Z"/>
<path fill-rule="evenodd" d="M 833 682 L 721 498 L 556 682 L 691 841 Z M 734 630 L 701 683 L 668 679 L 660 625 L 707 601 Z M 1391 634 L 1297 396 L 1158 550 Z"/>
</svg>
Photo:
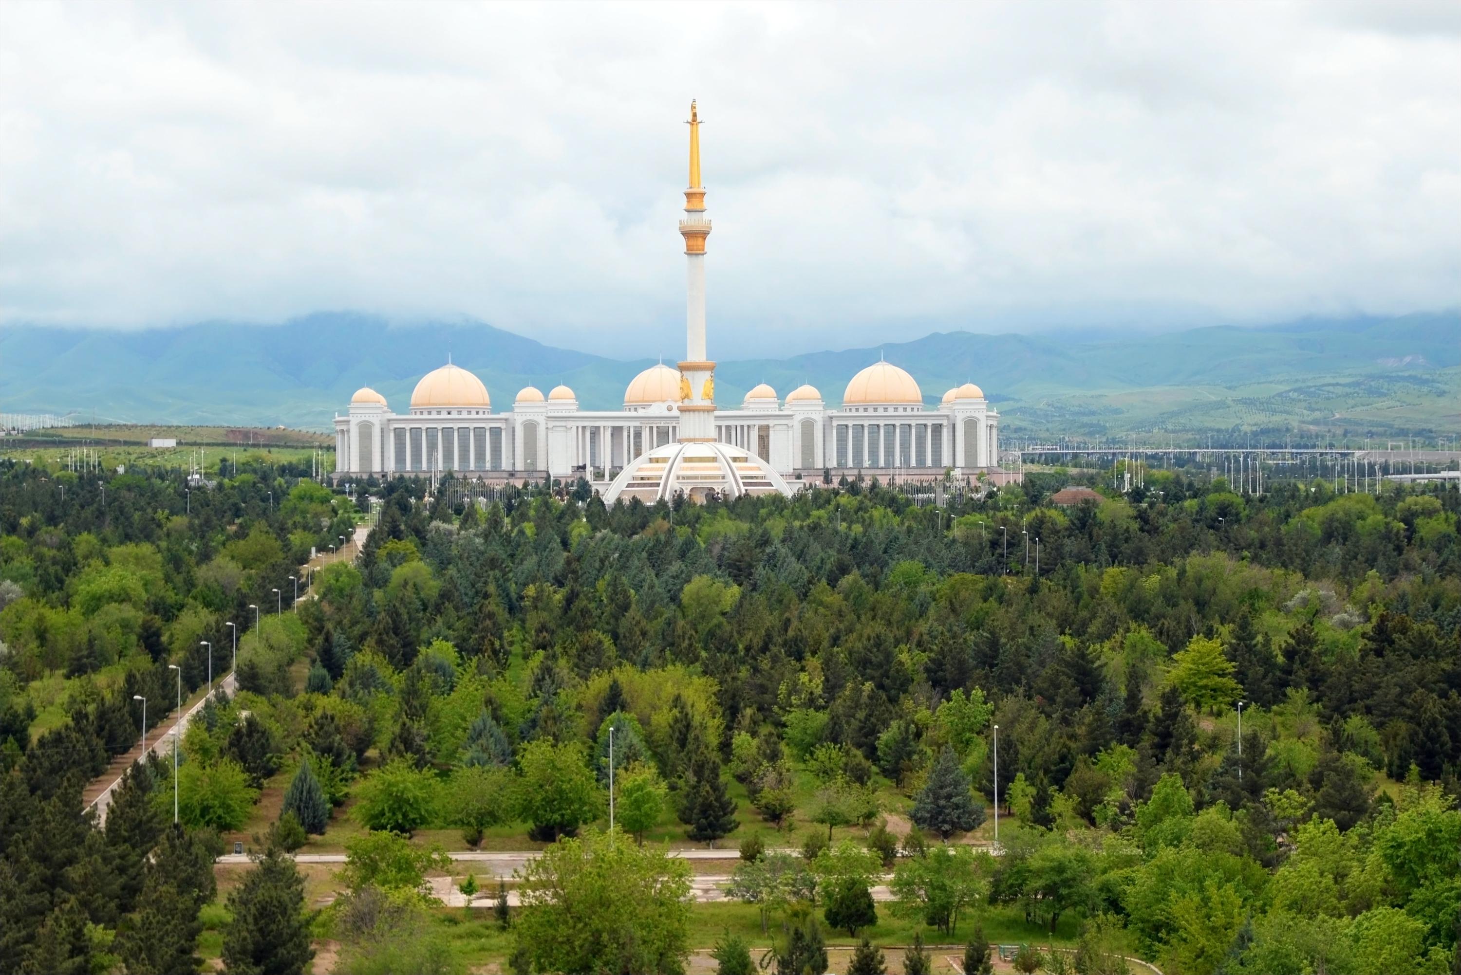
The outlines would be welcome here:
<svg viewBox="0 0 1461 975">
<path fill-rule="evenodd" d="M 682 971 L 690 866 L 666 849 L 592 832 L 564 838 L 519 870 L 516 931 L 539 972 Z"/>
</svg>

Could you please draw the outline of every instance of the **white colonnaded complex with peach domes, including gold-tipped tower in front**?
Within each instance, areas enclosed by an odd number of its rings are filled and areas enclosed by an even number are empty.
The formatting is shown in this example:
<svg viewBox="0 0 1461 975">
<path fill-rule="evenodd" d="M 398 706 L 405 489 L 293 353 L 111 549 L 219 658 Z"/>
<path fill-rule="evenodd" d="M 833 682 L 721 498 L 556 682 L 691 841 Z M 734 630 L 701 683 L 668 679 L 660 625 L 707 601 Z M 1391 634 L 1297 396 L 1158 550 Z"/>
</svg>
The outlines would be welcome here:
<svg viewBox="0 0 1461 975">
<path fill-rule="evenodd" d="M 573 390 L 543 396 L 527 387 L 510 410 L 494 412 L 487 387 L 451 365 L 428 372 L 406 413 L 365 387 L 335 417 L 337 476 L 434 476 L 454 471 L 491 479 L 584 476 L 644 501 L 684 490 L 789 493 L 796 480 L 836 474 L 969 476 L 999 458 L 999 415 L 972 384 L 937 407 L 907 372 L 874 362 L 843 390 L 839 406 L 802 385 L 785 400 L 761 384 L 739 409 L 714 401 L 714 366 L 706 356 L 706 188 L 700 181 L 700 123 L 690 107 L 690 187 L 679 234 L 685 244 L 685 361 L 659 363 L 624 390 L 618 410 L 583 410 Z M 676 447 L 678 445 L 678 447 Z"/>
</svg>

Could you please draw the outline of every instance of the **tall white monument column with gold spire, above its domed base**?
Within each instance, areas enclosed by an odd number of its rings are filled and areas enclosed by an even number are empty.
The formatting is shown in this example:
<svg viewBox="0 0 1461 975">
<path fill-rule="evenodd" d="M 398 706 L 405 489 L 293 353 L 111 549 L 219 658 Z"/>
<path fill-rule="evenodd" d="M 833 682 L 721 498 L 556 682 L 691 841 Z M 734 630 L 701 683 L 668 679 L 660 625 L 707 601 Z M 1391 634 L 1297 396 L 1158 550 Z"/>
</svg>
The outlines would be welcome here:
<svg viewBox="0 0 1461 975">
<path fill-rule="evenodd" d="M 700 115 L 690 102 L 690 187 L 685 190 L 685 361 L 679 363 L 679 439 L 716 438 L 716 363 L 706 359 L 706 188 L 700 182 Z"/>
</svg>

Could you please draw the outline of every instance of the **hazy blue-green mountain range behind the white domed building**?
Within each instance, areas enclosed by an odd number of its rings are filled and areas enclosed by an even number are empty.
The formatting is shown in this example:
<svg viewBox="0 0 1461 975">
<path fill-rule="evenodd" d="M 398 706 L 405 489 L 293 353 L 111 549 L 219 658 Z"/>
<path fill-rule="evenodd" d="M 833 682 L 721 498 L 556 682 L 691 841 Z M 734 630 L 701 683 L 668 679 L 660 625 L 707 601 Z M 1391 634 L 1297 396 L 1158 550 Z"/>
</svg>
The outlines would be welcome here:
<svg viewBox="0 0 1461 975">
<path fill-rule="evenodd" d="M 732 358 L 722 347 L 716 393 L 732 404 L 757 382 L 770 382 L 782 396 L 811 382 L 836 404 L 847 379 L 881 356 L 913 374 L 931 404 L 953 385 L 979 384 L 1011 429 L 1018 429 L 1021 413 L 1034 423 L 1050 403 L 1074 403 L 1080 413 L 1081 401 L 1170 400 L 1154 393 L 1161 390 L 1204 390 L 1207 398 L 1223 400 L 1229 393 L 1251 397 L 1255 388 L 1273 397 L 1357 379 L 1388 388 L 1386 379 L 1401 378 L 1419 382 L 1422 397 L 1448 398 L 1461 366 L 1458 339 L 1461 311 L 1442 311 L 1131 337 L 948 331 L 786 359 Z M 498 410 L 510 409 L 523 385 L 546 391 L 558 382 L 573 387 L 584 409 L 615 409 L 625 384 L 653 362 L 557 349 L 484 323 L 403 325 L 354 312 L 279 325 L 200 323 L 140 331 L 10 325 L 0 328 L 0 410 L 327 429 L 361 385 L 405 410 L 416 379 L 449 356 L 482 378 Z M 1455 404 L 1441 404 L 1442 420 L 1448 409 Z M 1148 410 L 1132 416 L 1138 413 Z"/>
</svg>

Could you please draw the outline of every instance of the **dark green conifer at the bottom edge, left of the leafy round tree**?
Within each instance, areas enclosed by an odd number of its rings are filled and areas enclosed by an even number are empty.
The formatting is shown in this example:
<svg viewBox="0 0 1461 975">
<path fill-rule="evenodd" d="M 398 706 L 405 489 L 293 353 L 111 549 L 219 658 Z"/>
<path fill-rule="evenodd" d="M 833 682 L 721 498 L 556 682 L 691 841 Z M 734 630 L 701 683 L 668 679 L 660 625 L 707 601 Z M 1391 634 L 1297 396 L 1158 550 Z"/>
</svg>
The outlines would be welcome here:
<svg viewBox="0 0 1461 975">
<path fill-rule="evenodd" d="M 304 915 L 304 877 L 282 849 L 270 849 L 228 895 L 234 920 L 224 931 L 229 975 L 302 975 L 314 957 Z"/>
</svg>

